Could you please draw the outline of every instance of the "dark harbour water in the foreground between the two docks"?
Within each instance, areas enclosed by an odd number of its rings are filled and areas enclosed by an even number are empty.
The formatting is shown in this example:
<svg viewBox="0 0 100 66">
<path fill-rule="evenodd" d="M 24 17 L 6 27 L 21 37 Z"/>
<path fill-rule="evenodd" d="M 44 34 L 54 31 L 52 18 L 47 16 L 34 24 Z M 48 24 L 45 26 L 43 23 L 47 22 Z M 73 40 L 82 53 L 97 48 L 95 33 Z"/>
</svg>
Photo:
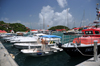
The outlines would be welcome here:
<svg viewBox="0 0 100 66">
<path fill-rule="evenodd" d="M 61 36 L 61 33 L 58 33 Z M 2 43 L 8 52 L 15 56 L 15 61 L 19 66 L 75 66 L 90 57 L 70 57 L 64 51 L 50 56 L 32 57 L 20 53 L 20 51 L 13 47 L 13 44 Z"/>
</svg>

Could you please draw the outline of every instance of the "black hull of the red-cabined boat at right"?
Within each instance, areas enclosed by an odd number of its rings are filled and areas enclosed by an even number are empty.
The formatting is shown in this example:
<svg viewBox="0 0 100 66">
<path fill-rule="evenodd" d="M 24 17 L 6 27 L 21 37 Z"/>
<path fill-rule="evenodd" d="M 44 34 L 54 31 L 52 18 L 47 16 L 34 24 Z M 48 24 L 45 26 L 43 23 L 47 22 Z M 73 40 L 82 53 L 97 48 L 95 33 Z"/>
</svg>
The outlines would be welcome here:
<svg viewBox="0 0 100 66">
<path fill-rule="evenodd" d="M 94 54 L 94 46 L 88 47 L 62 47 L 63 50 L 70 55 L 71 57 L 78 57 L 78 56 L 93 56 Z M 81 52 L 79 52 L 81 51 Z M 100 53 L 100 45 L 97 47 L 97 53 Z"/>
</svg>

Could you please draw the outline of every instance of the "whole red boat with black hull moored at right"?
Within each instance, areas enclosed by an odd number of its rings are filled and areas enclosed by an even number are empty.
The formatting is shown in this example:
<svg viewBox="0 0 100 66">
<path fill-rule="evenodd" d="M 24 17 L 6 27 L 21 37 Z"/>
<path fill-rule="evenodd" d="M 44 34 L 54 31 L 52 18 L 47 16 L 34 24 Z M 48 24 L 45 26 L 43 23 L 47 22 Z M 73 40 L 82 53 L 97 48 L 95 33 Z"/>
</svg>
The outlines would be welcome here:
<svg viewBox="0 0 100 66">
<path fill-rule="evenodd" d="M 97 40 L 98 53 L 100 53 L 100 28 L 84 29 L 82 33 L 73 33 L 74 36 L 80 37 L 74 38 L 72 42 L 63 44 L 61 46 L 63 50 L 70 56 L 93 56 L 94 40 Z M 69 34 L 64 33 L 64 35 Z"/>
</svg>

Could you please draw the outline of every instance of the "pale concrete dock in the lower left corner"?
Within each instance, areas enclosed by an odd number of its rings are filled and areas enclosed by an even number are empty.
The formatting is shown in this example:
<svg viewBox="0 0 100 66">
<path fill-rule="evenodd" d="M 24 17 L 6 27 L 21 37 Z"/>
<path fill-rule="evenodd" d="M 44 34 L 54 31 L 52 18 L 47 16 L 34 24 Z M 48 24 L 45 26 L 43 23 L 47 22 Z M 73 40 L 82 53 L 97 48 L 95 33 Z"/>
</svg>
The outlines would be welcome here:
<svg viewBox="0 0 100 66">
<path fill-rule="evenodd" d="M 0 66 L 18 66 L 6 48 L 0 42 Z"/>
</svg>

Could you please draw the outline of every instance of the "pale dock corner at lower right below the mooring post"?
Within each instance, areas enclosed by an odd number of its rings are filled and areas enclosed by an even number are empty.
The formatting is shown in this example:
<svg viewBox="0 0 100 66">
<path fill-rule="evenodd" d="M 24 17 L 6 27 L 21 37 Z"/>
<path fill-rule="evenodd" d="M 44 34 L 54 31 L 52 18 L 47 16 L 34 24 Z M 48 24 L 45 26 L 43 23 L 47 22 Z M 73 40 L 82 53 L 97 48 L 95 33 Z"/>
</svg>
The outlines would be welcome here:
<svg viewBox="0 0 100 66">
<path fill-rule="evenodd" d="M 92 57 L 76 66 L 100 66 L 100 55 L 98 55 L 97 58 L 98 58 L 97 61 L 95 61 L 94 57 Z"/>
</svg>

